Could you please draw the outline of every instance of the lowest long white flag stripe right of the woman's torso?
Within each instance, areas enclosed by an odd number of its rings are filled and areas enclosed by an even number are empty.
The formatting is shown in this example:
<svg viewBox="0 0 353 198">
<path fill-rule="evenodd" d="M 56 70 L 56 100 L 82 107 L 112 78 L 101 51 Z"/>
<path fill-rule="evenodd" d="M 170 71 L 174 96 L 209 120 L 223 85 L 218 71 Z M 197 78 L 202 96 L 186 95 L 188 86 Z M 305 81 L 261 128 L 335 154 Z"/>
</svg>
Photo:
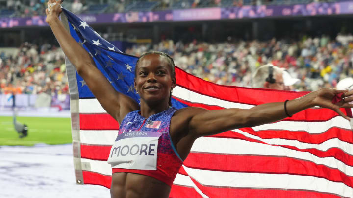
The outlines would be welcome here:
<svg viewBox="0 0 353 198">
<path fill-rule="evenodd" d="M 352 197 L 353 188 L 313 176 L 208 171 L 184 166 L 188 175 L 202 185 L 239 188 L 301 189 Z M 324 187 L 325 186 L 325 187 Z M 324 188 L 323 188 L 324 187 Z"/>
</svg>

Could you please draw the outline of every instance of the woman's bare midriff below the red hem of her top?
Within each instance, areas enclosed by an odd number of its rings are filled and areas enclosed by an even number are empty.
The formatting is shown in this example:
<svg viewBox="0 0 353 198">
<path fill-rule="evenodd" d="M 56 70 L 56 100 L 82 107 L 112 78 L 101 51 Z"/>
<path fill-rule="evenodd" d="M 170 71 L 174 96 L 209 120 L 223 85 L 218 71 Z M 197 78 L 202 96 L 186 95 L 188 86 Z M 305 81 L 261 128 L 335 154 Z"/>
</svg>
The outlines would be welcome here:
<svg viewBox="0 0 353 198">
<path fill-rule="evenodd" d="M 150 176 L 113 173 L 111 198 L 168 198 L 170 186 Z"/>
</svg>

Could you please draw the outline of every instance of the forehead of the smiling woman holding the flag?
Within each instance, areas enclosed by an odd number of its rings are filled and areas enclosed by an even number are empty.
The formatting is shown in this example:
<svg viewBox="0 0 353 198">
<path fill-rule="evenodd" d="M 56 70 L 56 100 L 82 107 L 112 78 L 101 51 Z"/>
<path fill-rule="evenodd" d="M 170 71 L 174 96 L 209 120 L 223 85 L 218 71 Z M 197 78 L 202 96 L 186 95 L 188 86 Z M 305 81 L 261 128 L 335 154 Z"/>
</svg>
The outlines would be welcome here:
<svg viewBox="0 0 353 198">
<path fill-rule="evenodd" d="M 160 54 L 147 54 L 140 59 L 137 69 L 150 66 L 165 66 L 169 67 L 169 61 L 165 56 Z"/>
</svg>

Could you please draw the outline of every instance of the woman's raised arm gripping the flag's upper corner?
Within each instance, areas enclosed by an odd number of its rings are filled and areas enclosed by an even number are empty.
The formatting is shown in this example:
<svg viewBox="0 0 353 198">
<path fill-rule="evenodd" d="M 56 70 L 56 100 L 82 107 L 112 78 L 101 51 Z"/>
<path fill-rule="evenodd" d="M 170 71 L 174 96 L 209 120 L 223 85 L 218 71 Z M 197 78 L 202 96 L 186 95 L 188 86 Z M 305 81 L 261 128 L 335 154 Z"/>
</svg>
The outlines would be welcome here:
<svg viewBox="0 0 353 198">
<path fill-rule="evenodd" d="M 121 123 L 128 112 L 139 109 L 138 104 L 132 98 L 119 93 L 113 88 L 101 71 L 97 69 L 88 52 L 66 31 L 58 18 L 61 13 L 61 0 L 49 0 L 49 3 L 57 4 L 52 6 L 50 11 L 46 9 L 46 22 L 49 24 L 62 50 L 101 103 L 101 106 Z"/>
</svg>

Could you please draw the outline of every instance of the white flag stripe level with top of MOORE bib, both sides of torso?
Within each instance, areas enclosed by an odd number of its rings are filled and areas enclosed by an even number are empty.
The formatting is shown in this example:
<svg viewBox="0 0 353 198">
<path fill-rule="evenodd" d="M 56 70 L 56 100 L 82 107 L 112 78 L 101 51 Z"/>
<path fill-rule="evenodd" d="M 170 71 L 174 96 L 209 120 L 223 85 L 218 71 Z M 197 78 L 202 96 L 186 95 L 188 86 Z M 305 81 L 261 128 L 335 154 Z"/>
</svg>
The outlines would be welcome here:
<svg viewBox="0 0 353 198">
<path fill-rule="evenodd" d="M 112 145 L 115 135 L 111 131 L 80 130 L 81 143 L 95 145 Z M 90 137 L 92 135 L 93 137 Z M 98 144 L 100 143 L 100 144 Z M 334 157 L 317 157 L 308 152 L 301 152 L 278 146 L 271 146 L 256 142 L 249 142 L 239 139 L 227 139 L 216 137 L 200 137 L 192 148 L 191 152 L 207 152 L 210 154 L 247 154 L 258 156 L 288 156 L 322 164 L 345 172 L 353 176 L 353 167 L 344 164 Z"/>
</svg>

